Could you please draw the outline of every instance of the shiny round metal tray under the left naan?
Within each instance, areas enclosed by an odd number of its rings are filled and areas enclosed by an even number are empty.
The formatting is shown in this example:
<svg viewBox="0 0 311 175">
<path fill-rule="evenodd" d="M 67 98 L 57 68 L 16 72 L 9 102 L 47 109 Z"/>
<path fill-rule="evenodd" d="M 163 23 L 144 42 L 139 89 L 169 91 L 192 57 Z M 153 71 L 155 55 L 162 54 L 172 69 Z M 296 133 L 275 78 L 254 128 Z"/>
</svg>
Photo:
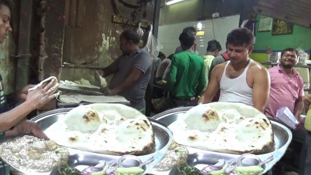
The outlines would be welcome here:
<svg viewBox="0 0 311 175">
<path fill-rule="evenodd" d="M 61 117 L 65 116 L 67 112 L 69 112 L 73 108 L 62 108 L 62 109 L 55 109 L 41 115 L 36 116 L 32 119 L 32 121 L 39 124 L 40 128 L 45 131 L 49 126 L 53 123 L 57 122 Z M 162 159 L 166 151 L 168 150 L 169 146 L 173 141 L 173 134 L 172 132 L 162 123 L 150 119 L 152 123 L 153 130 L 155 133 L 155 151 L 151 153 L 147 153 L 144 155 L 139 155 L 139 159 L 142 161 L 147 160 L 150 157 L 155 157 L 155 161 L 151 164 L 146 166 L 146 171 L 144 174 L 147 174 L 152 170 L 152 168 Z M 60 136 L 61 137 L 61 136 Z M 86 151 L 80 151 L 76 149 L 68 148 L 69 151 L 69 166 L 73 166 L 79 170 L 84 169 L 87 166 L 94 166 L 98 163 L 98 160 L 105 159 L 105 160 L 118 160 L 120 156 L 112 156 L 112 155 L 104 155 L 98 153 L 90 153 Z M 80 162 L 80 163 L 79 163 Z M 15 167 L 13 167 L 15 168 Z M 34 172 L 24 172 L 15 168 L 17 171 L 27 174 L 27 175 L 57 175 L 58 171 L 52 171 L 47 173 L 34 173 Z"/>
</svg>

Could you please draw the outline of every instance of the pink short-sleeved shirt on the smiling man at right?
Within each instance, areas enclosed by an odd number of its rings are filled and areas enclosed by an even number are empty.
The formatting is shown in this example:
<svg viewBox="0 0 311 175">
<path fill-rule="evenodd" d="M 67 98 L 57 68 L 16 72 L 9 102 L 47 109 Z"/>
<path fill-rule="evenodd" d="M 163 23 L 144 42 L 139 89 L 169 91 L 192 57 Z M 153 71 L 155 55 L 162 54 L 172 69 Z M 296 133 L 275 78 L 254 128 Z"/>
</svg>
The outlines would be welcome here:
<svg viewBox="0 0 311 175">
<path fill-rule="evenodd" d="M 281 70 L 280 64 L 268 69 L 271 78 L 270 96 L 265 110 L 267 116 L 276 118 L 276 111 L 287 106 L 294 113 L 295 101 L 304 96 L 303 80 L 293 69 L 293 75 L 288 78 Z"/>
</svg>

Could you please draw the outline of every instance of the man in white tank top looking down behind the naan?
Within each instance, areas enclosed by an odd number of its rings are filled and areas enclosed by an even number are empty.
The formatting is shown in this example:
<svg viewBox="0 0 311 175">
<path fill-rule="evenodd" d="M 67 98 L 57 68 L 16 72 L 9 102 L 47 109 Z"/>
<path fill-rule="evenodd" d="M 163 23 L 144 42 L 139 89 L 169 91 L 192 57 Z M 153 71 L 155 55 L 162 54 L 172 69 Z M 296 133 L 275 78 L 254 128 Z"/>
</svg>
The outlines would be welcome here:
<svg viewBox="0 0 311 175">
<path fill-rule="evenodd" d="M 229 61 L 215 66 L 207 90 L 198 103 L 210 103 L 220 88 L 219 102 L 240 102 L 264 112 L 270 91 L 268 71 L 249 58 L 254 35 L 246 28 L 234 29 L 227 35 Z"/>
</svg>

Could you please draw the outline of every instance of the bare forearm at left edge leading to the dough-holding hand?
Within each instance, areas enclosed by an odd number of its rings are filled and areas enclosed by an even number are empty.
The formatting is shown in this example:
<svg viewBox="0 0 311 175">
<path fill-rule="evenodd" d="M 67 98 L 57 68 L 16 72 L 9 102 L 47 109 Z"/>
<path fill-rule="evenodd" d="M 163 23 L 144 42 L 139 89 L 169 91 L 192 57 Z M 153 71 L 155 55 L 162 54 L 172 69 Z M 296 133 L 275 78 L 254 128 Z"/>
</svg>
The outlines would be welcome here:
<svg viewBox="0 0 311 175">
<path fill-rule="evenodd" d="M 10 129 L 33 110 L 35 110 L 34 105 L 24 102 L 12 110 L 0 114 L 0 132 Z"/>
</svg>

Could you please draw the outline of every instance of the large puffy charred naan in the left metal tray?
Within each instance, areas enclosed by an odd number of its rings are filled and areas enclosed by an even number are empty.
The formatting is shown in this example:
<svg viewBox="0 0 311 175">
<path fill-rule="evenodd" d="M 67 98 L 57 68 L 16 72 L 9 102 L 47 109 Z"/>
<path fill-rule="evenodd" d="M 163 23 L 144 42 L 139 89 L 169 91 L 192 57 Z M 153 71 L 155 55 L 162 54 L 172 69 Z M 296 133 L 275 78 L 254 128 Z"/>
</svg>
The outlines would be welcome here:
<svg viewBox="0 0 311 175">
<path fill-rule="evenodd" d="M 62 146 L 110 155 L 145 153 L 155 145 L 148 118 L 121 104 L 81 105 L 52 124 L 45 134 Z"/>
</svg>

